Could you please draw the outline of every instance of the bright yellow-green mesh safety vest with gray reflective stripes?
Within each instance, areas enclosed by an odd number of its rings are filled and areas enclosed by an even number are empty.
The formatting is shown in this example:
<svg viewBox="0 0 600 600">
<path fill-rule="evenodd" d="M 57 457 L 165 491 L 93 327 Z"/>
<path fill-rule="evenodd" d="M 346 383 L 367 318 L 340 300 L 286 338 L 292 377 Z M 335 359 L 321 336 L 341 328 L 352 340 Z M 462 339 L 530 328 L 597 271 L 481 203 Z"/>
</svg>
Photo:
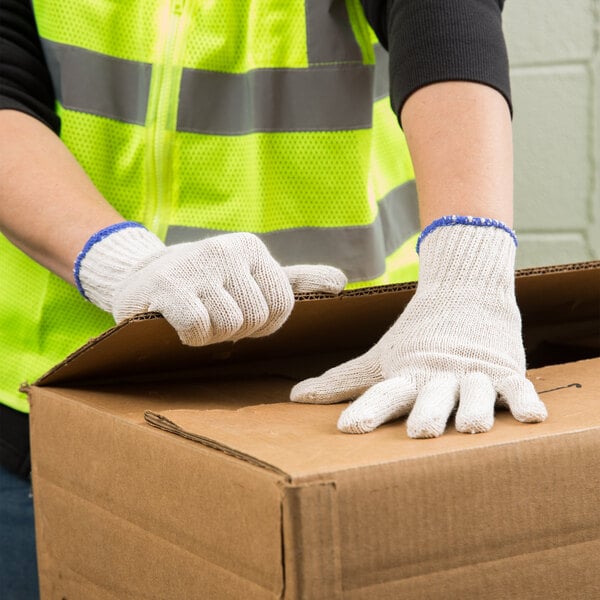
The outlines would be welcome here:
<svg viewBox="0 0 600 600">
<path fill-rule="evenodd" d="M 251 231 L 350 287 L 416 279 L 412 165 L 358 0 L 33 5 L 61 137 L 126 219 L 167 243 Z M 0 401 L 27 411 L 19 384 L 113 323 L 0 245 Z"/>
</svg>

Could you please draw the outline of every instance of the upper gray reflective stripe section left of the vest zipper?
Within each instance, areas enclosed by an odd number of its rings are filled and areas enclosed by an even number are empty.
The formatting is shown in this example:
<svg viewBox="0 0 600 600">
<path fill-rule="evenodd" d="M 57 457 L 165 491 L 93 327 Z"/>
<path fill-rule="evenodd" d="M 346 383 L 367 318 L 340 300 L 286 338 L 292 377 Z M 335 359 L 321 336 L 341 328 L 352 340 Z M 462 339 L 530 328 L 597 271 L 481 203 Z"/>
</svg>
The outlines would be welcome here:
<svg viewBox="0 0 600 600">
<path fill-rule="evenodd" d="M 57 100 L 65 107 L 143 125 L 152 67 L 42 40 Z"/>
</svg>

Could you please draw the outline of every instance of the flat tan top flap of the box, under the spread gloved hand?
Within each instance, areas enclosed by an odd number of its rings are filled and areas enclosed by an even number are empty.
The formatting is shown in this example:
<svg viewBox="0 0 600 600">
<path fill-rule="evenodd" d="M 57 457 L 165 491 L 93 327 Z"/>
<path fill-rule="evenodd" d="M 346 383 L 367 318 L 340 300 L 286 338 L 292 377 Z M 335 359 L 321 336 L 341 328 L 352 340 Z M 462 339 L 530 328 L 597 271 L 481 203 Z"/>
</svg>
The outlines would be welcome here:
<svg viewBox="0 0 600 600">
<path fill-rule="evenodd" d="M 193 410 L 148 411 L 151 425 L 221 450 L 255 465 L 285 473 L 298 483 L 335 472 L 413 460 L 424 456 L 595 429 L 600 435 L 600 358 L 554 365 L 528 372 L 549 417 L 540 424 L 515 421 L 507 411 L 497 413 L 485 435 L 458 433 L 452 425 L 435 440 L 407 437 L 403 424 L 389 423 L 366 435 L 348 435 L 336 429 L 343 404 L 310 405 L 286 402 L 254 404 L 231 410 L 202 409 L 202 397 Z M 239 382 L 244 395 L 243 381 Z M 289 387 L 289 386 L 288 386 Z M 310 444 L 307 444 L 310 440 Z"/>
</svg>

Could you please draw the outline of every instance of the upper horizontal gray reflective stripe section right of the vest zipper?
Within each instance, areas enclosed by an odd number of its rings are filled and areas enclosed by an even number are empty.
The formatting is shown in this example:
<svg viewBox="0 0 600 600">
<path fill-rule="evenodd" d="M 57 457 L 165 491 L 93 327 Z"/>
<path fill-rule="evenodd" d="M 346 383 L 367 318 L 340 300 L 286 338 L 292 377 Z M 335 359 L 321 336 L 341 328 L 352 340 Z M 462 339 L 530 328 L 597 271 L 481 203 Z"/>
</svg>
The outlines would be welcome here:
<svg viewBox="0 0 600 600">
<path fill-rule="evenodd" d="M 373 66 L 184 69 L 177 129 L 212 135 L 371 127 Z"/>
</svg>

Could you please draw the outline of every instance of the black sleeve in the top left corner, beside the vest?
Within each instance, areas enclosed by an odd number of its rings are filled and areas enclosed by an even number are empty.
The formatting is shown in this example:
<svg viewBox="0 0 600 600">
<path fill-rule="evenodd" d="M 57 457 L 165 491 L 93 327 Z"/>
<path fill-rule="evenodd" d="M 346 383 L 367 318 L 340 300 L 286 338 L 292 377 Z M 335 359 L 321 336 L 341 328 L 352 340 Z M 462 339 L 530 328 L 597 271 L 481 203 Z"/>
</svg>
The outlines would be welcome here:
<svg viewBox="0 0 600 600">
<path fill-rule="evenodd" d="M 0 0 L 0 109 L 27 113 L 58 133 L 54 106 L 30 0 Z"/>
</svg>

